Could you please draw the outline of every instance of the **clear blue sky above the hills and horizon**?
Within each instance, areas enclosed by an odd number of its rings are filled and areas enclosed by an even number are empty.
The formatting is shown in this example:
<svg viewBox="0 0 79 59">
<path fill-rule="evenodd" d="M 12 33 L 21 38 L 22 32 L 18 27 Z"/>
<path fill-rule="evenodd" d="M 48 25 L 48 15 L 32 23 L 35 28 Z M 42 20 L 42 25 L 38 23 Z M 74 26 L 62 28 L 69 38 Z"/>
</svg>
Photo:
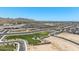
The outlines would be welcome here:
<svg viewBox="0 0 79 59">
<path fill-rule="evenodd" d="M 0 7 L 0 17 L 37 21 L 79 21 L 79 7 Z"/>
</svg>

